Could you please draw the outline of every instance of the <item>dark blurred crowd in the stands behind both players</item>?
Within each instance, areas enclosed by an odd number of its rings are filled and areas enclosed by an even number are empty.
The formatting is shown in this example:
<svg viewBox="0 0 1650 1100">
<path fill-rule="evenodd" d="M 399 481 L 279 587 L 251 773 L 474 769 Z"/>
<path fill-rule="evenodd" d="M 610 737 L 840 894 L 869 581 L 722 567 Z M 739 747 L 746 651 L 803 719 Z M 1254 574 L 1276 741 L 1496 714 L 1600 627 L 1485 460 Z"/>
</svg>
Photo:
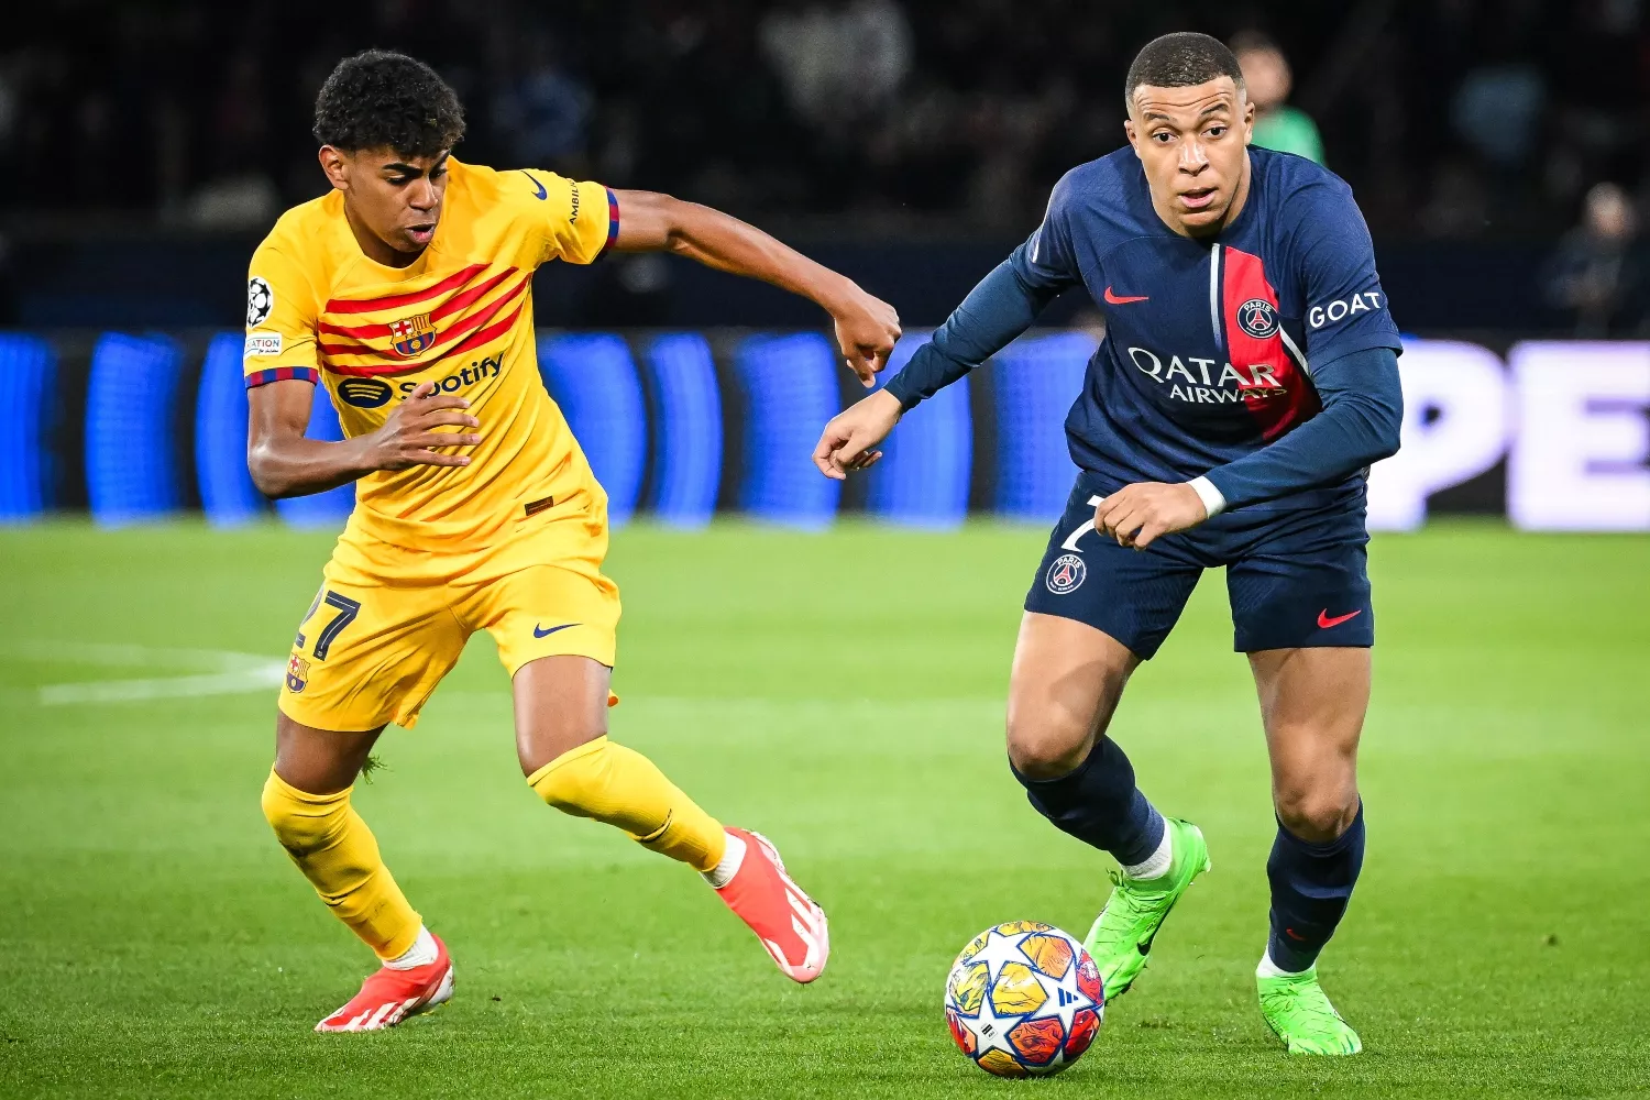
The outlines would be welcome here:
<svg viewBox="0 0 1650 1100">
<path fill-rule="evenodd" d="M 1008 241 L 1185 28 L 1242 48 L 1261 139 L 1351 181 L 1383 246 L 1541 242 L 1531 302 L 1638 330 L 1642 0 L 35 0 L 0 40 L 0 233 L 256 236 L 322 188 L 322 79 L 389 46 L 462 94 L 464 158 L 805 239 Z"/>
</svg>

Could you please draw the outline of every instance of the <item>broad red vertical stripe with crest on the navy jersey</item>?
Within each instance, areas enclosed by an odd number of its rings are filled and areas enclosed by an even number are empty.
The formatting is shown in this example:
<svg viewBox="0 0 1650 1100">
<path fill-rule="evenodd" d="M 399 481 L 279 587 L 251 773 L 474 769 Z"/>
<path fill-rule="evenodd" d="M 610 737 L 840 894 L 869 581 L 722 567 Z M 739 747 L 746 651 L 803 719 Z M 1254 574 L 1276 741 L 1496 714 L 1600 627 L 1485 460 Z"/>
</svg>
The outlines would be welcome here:
<svg viewBox="0 0 1650 1100">
<path fill-rule="evenodd" d="M 1323 406 L 1318 391 L 1284 346 L 1277 290 L 1266 280 L 1259 256 L 1224 249 L 1226 277 L 1221 280 L 1226 322 L 1226 358 L 1242 376 L 1242 402 L 1261 425 L 1262 439 L 1275 439 L 1310 421 Z M 1264 307 L 1246 303 L 1261 302 Z M 1269 308 L 1266 308 L 1269 307 Z M 1249 320 L 1249 327 L 1244 322 Z M 1251 328 L 1267 331 L 1256 335 Z"/>
</svg>

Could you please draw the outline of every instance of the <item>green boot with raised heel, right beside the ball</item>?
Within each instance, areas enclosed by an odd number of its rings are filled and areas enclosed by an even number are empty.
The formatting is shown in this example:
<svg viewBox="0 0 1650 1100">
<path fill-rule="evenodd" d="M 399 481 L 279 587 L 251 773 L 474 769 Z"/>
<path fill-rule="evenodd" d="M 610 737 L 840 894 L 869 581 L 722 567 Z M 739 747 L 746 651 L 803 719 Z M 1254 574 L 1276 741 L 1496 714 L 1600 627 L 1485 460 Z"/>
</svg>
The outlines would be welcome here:
<svg viewBox="0 0 1650 1100">
<path fill-rule="evenodd" d="M 1173 859 L 1168 872 L 1155 879 L 1130 879 L 1112 871 L 1112 896 L 1094 919 L 1089 938 L 1082 942 L 1094 965 L 1101 968 L 1107 1001 L 1127 993 L 1140 976 L 1152 940 L 1163 927 L 1168 910 L 1191 881 L 1209 869 L 1209 846 L 1203 843 L 1201 830 L 1180 818 L 1163 818 L 1163 821 L 1172 830 Z"/>
</svg>

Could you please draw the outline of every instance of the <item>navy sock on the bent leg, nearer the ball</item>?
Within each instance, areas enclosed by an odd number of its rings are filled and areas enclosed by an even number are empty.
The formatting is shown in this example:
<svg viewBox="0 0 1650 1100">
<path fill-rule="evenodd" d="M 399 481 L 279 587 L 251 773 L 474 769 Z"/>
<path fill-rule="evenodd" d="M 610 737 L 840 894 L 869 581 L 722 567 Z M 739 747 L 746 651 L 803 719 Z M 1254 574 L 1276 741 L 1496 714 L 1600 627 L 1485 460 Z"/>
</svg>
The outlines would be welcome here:
<svg viewBox="0 0 1650 1100">
<path fill-rule="evenodd" d="M 1013 764 L 1008 770 L 1054 828 L 1120 864 L 1143 863 L 1163 843 L 1163 815 L 1135 787 L 1134 765 L 1110 737 L 1096 740 L 1082 764 L 1059 778 L 1026 778 Z"/>
</svg>

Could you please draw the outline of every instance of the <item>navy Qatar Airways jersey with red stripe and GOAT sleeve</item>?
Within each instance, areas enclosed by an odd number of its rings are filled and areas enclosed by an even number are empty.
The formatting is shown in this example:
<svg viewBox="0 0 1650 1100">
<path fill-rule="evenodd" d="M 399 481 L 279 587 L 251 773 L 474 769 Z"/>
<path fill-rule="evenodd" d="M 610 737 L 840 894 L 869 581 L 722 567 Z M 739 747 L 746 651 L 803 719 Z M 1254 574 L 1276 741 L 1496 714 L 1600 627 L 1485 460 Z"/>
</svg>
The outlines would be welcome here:
<svg viewBox="0 0 1650 1100">
<path fill-rule="evenodd" d="M 1401 351 L 1374 246 L 1335 173 L 1249 148 L 1249 196 L 1214 237 L 1152 209 L 1134 148 L 1072 168 L 1013 259 L 1033 287 L 1081 284 L 1106 312 L 1066 417 L 1072 460 L 1119 485 L 1185 482 L 1312 419 L 1313 364 Z M 1256 505 L 1361 503 L 1363 473 Z"/>
</svg>

